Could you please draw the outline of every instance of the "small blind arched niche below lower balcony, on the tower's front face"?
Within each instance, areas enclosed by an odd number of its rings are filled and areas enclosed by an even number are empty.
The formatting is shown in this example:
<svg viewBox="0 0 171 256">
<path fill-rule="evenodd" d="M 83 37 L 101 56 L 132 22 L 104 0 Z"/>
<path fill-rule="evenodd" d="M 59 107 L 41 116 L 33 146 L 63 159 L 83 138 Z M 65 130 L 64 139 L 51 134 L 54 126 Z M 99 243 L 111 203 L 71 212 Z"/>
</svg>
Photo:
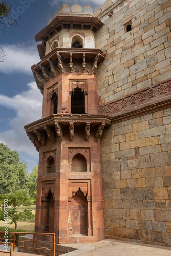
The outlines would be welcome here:
<svg viewBox="0 0 171 256">
<path fill-rule="evenodd" d="M 72 159 L 72 172 L 87 172 L 86 158 L 77 154 Z"/>
</svg>

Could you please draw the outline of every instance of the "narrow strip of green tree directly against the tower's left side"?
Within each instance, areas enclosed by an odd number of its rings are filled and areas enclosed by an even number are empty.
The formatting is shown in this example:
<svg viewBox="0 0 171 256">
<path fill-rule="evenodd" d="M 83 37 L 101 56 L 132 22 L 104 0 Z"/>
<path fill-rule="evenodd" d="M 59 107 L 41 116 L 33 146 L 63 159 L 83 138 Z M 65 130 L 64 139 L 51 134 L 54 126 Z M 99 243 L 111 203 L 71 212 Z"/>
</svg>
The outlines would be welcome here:
<svg viewBox="0 0 171 256">
<path fill-rule="evenodd" d="M 29 183 L 28 183 L 28 188 L 29 188 L 29 195 L 36 200 L 36 194 L 37 194 L 37 177 L 38 177 L 38 165 L 35 166 L 29 175 Z"/>
</svg>

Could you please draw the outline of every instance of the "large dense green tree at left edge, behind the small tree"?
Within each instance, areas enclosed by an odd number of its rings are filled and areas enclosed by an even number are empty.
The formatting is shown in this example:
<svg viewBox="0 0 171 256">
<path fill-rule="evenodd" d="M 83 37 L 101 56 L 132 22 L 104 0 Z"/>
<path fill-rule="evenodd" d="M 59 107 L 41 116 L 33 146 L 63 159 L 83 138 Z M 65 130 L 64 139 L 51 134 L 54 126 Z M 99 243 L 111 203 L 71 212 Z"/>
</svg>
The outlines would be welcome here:
<svg viewBox="0 0 171 256">
<path fill-rule="evenodd" d="M 20 161 L 16 151 L 0 143 L 0 194 L 7 194 L 16 189 L 28 189 L 29 176 L 27 165 Z"/>
</svg>

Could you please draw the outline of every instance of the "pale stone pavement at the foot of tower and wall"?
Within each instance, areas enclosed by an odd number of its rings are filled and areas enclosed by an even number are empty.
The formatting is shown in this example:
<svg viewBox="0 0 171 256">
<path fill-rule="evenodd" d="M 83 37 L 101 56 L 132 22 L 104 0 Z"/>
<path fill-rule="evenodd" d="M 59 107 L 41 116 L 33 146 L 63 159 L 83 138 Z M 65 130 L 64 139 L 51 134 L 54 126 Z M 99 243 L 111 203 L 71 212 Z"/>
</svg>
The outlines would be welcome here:
<svg viewBox="0 0 171 256">
<path fill-rule="evenodd" d="M 71 245 L 77 250 L 65 253 L 65 256 L 170 256 L 171 248 L 114 239 L 102 240 L 93 244 Z"/>
</svg>

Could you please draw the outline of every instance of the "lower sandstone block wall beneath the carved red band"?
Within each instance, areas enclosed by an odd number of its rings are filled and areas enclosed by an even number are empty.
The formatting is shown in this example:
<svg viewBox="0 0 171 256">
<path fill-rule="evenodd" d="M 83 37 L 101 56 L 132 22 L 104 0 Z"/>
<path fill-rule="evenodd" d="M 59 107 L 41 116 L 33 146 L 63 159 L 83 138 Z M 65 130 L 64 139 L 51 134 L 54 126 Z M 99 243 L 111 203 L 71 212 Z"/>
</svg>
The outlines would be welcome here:
<svg viewBox="0 0 171 256">
<path fill-rule="evenodd" d="M 106 129 L 101 139 L 106 238 L 171 246 L 171 109 Z"/>
</svg>

